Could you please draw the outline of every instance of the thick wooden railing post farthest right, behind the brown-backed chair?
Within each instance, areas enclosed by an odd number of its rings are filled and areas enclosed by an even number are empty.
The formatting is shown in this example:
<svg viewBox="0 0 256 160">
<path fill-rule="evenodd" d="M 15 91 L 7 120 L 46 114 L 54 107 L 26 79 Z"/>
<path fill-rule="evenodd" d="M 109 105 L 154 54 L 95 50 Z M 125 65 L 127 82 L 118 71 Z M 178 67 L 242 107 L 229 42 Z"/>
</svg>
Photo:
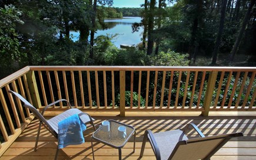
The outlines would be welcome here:
<svg viewBox="0 0 256 160">
<path fill-rule="evenodd" d="M 218 71 L 212 71 L 209 76 L 207 90 L 205 93 L 204 104 L 203 104 L 204 111 L 201 114 L 202 116 L 208 116 L 208 114 L 209 114 L 211 101 L 212 101 L 212 95 L 214 92 L 217 75 L 218 75 Z"/>
</svg>

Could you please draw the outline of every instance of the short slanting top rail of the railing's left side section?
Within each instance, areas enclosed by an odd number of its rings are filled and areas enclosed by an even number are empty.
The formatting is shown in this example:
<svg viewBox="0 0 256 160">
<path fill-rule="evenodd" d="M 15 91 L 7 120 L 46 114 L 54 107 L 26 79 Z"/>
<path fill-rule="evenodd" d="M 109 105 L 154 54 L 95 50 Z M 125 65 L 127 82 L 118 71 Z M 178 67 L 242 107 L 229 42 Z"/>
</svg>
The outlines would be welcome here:
<svg viewBox="0 0 256 160">
<path fill-rule="evenodd" d="M 25 66 L 22 69 L 19 69 L 19 71 L 14 72 L 14 74 L 11 74 L 9 76 L 6 76 L 5 78 L 0 80 L 0 88 L 3 86 L 9 84 L 10 82 L 14 81 L 15 79 L 19 78 L 20 76 L 26 74 L 29 71 L 29 66 Z"/>
</svg>

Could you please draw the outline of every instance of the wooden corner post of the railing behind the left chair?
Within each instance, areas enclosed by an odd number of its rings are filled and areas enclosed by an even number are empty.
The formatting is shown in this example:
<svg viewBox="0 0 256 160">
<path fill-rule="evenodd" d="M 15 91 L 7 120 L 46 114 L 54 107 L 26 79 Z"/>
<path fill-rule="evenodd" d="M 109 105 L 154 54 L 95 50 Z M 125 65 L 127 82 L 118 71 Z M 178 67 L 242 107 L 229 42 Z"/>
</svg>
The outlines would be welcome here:
<svg viewBox="0 0 256 160">
<path fill-rule="evenodd" d="M 26 77 L 28 79 L 29 92 L 30 92 L 33 104 L 35 107 L 40 108 L 42 105 L 39 97 L 38 88 L 36 85 L 35 72 L 29 71 L 26 74 Z"/>
</svg>

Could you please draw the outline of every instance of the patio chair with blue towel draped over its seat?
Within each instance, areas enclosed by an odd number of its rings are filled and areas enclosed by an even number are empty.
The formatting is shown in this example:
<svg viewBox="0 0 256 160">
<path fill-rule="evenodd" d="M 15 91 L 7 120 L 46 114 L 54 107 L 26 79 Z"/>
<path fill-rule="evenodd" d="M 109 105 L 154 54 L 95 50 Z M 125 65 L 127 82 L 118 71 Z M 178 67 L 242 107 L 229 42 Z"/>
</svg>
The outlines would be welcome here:
<svg viewBox="0 0 256 160">
<path fill-rule="evenodd" d="M 37 133 L 37 136 L 36 136 L 34 151 L 36 151 L 36 149 L 37 149 L 39 134 L 40 134 L 40 131 L 41 131 L 41 125 L 44 125 L 45 128 L 48 129 L 48 131 L 51 132 L 51 134 L 53 136 L 55 136 L 55 138 L 58 139 L 58 122 L 66 119 L 66 118 L 68 118 L 68 117 L 70 117 L 72 115 L 75 115 L 75 114 L 77 114 L 79 116 L 79 118 L 81 119 L 81 121 L 84 124 L 87 124 L 88 122 L 90 122 L 91 125 L 93 126 L 94 130 L 96 131 L 96 128 L 95 128 L 95 125 L 94 125 L 95 119 L 91 118 L 91 116 L 89 114 L 84 113 L 84 112 L 80 111 L 77 108 L 72 108 L 71 104 L 66 99 L 59 99 L 58 101 L 55 101 L 55 102 L 45 106 L 45 108 L 40 113 L 38 111 L 38 109 L 36 109 L 34 106 L 32 106 L 20 94 L 14 92 L 14 91 L 9 91 L 9 93 L 15 95 L 22 102 L 24 102 L 24 106 L 26 108 L 28 108 L 36 116 L 36 118 L 38 118 L 38 120 L 39 120 L 39 128 L 38 128 L 38 133 Z M 63 112 L 62 114 L 54 116 L 51 119 L 45 119 L 44 118 L 44 112 L 46 111 L 46 109 L 49 108 L 49 106 L 55 105 L 55 104 L 57 104 L 57 103 L 59 103 L 61 101 L 67 102 L 67 105 L 69 106 L 70 109 L 68 109 L 67 111 Z M 58 151 L 59 151 L 59 149 L 58 149 L 58 146 L 57 146 L 57 150 L 56 150 L 56 154 L 55 154 L 55 159 L 58 157 Z"/>
</svg>

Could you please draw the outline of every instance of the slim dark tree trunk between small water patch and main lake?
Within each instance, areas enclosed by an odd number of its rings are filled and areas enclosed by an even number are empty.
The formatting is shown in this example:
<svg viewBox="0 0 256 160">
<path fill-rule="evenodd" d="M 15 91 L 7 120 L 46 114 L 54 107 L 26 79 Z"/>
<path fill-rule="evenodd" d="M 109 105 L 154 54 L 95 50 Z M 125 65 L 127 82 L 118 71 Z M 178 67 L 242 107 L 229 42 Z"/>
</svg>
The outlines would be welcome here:
<svg viewBox="0 0 256 160">
<path fill-rule="evenodd" d="M 92 29 L 91 29 L 91 39 L 90 39 L 90 51 L 89 57 L 94 57 L 94 34 L 95 34 L 95 19 L 96 19 L 96 12 L 97 12 L 97 0 L 94 0 L 94 14 L 92 15 Z"/>
</svg>

